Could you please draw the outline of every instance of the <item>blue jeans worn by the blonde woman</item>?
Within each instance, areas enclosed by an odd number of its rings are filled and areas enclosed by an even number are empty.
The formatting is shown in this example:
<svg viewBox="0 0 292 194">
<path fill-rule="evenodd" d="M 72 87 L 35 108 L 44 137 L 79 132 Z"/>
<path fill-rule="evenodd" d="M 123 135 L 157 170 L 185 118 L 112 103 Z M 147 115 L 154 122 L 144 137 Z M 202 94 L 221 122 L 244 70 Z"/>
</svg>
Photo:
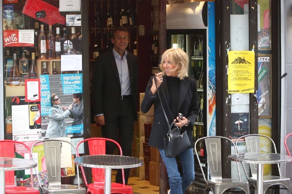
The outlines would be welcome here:
<svg viewBox="0 0 292 194">
<path fill-rule="evenodd" d="M 164 149 L 158 150 L 166 166 L 171 194 L 184 194 L 195 179 L 193 149 L 186 149 L 178 155 L 182 165 L 182 177 L 178 171 L 176 159 L 166 157 Z"/>
</svg>

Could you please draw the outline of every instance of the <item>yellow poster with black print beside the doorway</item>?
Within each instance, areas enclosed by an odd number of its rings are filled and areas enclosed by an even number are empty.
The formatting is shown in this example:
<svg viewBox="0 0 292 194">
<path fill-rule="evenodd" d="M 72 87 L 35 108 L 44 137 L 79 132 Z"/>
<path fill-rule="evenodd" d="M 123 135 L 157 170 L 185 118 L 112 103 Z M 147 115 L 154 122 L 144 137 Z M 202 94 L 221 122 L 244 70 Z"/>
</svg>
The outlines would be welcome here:
<svg viewBox="0 0 292 194">
<path fill-rule="evenodd" d="M 255 52 L 228 52 L 228 93 L 254 93 Z"/>
</svg>

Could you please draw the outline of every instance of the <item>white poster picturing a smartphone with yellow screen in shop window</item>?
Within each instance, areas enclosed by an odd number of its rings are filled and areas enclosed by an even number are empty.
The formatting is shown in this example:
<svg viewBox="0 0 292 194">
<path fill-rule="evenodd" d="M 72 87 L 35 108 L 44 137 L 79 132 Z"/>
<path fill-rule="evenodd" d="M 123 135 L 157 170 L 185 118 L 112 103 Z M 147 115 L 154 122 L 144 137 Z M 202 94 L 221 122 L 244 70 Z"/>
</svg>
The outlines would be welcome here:
<svg viewBox="0 0 292 194">
<path fill-rule="evenodd" d="M 41 139 L 40 103 L 11 97 L 12 138 L 16 141 Z"/>
</svg>

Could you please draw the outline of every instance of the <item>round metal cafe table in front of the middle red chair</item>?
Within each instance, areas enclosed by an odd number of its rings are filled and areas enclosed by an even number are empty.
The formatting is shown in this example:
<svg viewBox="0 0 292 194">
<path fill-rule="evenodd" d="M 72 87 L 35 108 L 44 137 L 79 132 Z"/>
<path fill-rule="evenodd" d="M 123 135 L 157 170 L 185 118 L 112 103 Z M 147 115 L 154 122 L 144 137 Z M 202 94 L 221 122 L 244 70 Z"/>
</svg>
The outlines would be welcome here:
<svg viewBox="0 0 292 194">
<path fill-rule="evenodd" d="M 135 168 L 143 165 L 143 161 L 120 155 L 88 155 L 74 159 L 74 163 L 84 167 L 105 169 L 104 194 L 111 192 L 111 169 Z"/>
</svg>

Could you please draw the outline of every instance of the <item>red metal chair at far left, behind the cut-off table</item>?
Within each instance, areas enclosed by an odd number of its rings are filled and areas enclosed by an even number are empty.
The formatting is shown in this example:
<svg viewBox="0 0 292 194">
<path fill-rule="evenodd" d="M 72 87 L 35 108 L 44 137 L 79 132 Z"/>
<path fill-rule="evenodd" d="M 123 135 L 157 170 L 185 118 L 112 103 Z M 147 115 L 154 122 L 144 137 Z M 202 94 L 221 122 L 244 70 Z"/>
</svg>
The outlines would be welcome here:
<svg viewBox="0 0 292 194">
<path fill-rule="evenodd" d="M 27 149 L 31 159 L 30 148 L 20 141 L 0 140 L 0 157 L 15 158 L 15 145 L 21 144 Z M 39 194 L 39 190 L 33 189 L 32 169 L 30 170 L 31 188 L 14 186 L 14 171 L 5 172 L 5 194 Z"/>
</svg>

